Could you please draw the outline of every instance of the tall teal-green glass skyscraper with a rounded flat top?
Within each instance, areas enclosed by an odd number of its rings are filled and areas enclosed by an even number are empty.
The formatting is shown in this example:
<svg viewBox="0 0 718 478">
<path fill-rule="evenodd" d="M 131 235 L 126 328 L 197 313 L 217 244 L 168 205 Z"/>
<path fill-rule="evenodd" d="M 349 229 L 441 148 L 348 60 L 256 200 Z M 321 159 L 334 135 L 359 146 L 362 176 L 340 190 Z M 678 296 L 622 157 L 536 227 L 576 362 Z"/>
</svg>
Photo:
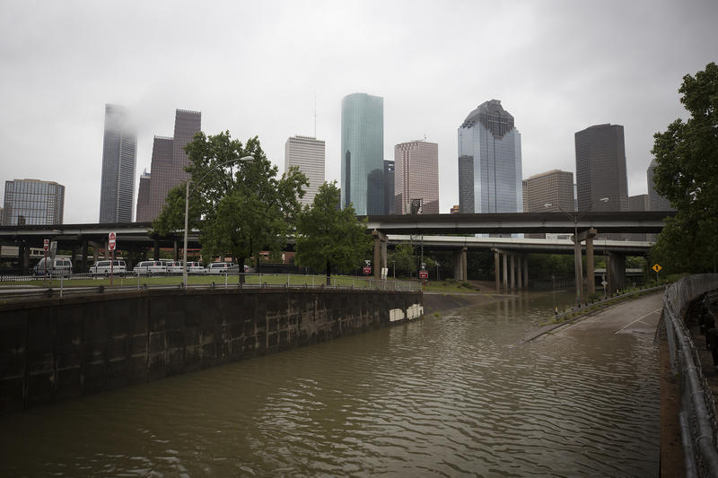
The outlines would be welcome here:
<svg viewBox="0 0 718 478">
<path fill-rule="evenodd" d="M 384 99 L 366 93 L 342 100 L 342 207 L 384 213 Z"/>
</svg>

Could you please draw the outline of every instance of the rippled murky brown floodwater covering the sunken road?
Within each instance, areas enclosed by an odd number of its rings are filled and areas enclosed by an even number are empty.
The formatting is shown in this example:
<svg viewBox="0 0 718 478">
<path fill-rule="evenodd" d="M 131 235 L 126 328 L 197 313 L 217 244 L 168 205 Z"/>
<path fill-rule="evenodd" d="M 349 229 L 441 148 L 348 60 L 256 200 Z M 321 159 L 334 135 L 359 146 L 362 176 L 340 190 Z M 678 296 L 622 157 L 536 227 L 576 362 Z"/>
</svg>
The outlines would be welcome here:
<svg viewBox="0 0 718 478">
<path fill-rule="evenodd" d="M 0 474 L 657 474 L 652 337 L 521 344 L 552 308 L 526 294 L 0 417 Z"/>
</svg>

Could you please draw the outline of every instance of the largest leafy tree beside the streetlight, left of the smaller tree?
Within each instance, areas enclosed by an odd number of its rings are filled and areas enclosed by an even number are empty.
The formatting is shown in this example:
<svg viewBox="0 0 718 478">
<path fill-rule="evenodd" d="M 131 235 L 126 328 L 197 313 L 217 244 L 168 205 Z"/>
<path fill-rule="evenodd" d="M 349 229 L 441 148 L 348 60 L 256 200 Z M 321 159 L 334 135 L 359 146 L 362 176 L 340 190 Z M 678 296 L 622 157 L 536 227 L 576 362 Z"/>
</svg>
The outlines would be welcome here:
<svg viewBox="0 0 718 478">
<path fill-rule="evenodd" d="M 232 255 L 243 270 L 261 250 L 278 251 L 301 212 L 306 176 L 290 168 L 281 178 L 267 160 L 258 137 L 242 144 L 229 131 L 200 132 L 185 151 L 191 175 L 190 228 L 200 231 L 203 254 Z M 251 156 L 251 161 L 239 161 Z M 162 235 L 184 228 L 185 185 L 173 188 L 153 230 Z"/>
</svg>

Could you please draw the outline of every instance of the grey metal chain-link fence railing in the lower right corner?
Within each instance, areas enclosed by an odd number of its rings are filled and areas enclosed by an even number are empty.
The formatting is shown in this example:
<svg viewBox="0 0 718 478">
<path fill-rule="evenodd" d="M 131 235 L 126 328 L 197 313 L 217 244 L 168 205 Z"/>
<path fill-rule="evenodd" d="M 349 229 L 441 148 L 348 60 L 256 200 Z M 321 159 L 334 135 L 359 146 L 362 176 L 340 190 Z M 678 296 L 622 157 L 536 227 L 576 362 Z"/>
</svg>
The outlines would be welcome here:
<svg viewBox="0 0 718 478">
<path fill-rule="evenodd" d="M 673 373 L 680 378 L 680 422 L 687 476 L 718 477 L 718 423 L 714 396 L 705 382 L 696 345 L 685 324 L 687 307 L 705 291 L 718 289 L 718 274 L 683 277 L 663 294 L 665 326 Z"/>
</svg>

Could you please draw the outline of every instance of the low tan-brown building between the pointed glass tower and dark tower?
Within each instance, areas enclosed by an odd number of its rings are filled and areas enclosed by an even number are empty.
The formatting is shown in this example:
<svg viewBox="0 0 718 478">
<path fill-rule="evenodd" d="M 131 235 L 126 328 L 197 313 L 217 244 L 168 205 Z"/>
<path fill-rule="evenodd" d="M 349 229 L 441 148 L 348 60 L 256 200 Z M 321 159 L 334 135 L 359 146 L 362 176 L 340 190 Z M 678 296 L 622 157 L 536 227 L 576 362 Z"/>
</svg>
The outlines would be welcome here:
<svg viewBox="0 0 718 478">
<path fill-rule="evenodd" d="M 552 169 L 524 179 L 523 211 L 574 211 L 574 173 Z"/>
</svg>

